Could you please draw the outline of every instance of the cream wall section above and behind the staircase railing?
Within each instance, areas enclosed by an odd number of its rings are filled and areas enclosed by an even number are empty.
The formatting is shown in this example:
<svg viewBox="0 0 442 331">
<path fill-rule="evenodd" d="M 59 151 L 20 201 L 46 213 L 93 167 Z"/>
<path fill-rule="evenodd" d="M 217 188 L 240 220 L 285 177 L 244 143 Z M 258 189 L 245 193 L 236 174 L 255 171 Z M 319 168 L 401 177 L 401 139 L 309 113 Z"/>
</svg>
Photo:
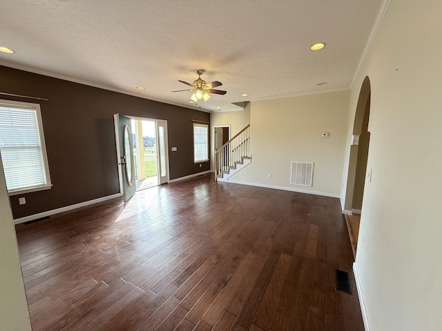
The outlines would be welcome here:
<svg viewBox="0 0 442 331">
<path fill-rule="evenodd" d="M 213 151 L 215 150 L 215 126 L 230 126 L 230 137 L 233 138 L 235 134 L 244 129 L 250 124 L 250 103 L 247 102 L 244 110 L 238 110 L 236 112 L 211 112 L 211 165 L 210 168 L 213 171 Z"/>
</svg>

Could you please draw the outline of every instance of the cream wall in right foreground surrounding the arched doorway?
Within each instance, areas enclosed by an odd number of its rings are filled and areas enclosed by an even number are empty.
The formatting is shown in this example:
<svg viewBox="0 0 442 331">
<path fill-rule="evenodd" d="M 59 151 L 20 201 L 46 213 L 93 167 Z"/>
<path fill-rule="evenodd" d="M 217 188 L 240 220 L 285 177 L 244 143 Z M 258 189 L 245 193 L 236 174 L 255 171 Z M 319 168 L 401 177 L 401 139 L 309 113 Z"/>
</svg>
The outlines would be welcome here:
<svg viewBox="0 0 442 331">
<path fill-rule="evenodd" d="M 440 0 L 392 0 L 352 87 L 347 137 L 371 81 L 355 268 L 372 331 L 442 330 L 441 14 Z"/>
</svg>

